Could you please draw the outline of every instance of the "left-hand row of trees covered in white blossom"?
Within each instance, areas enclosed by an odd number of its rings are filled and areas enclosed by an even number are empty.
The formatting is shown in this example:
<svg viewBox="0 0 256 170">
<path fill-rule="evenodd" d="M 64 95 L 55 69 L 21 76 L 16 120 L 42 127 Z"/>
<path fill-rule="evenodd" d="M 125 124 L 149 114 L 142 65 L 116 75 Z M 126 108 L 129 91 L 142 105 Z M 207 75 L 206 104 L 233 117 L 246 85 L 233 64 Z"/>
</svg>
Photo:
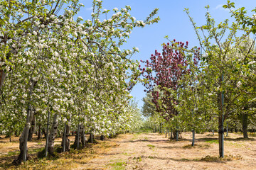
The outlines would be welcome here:
<svg viewBox="0 0 256 170">
<path fill-rule="evenodd" d="M 94 0 L 92 18 L 84 20 L 77 16 L 83 7 L 76 0 L 0 1 L 0 132 L 22 132 L 18 162 L 28 159 L 35 119 L 39 129 L 51 122 L 50 154 L 58 131 L 68 151 L 70 128 L 110 135 L 139 120 L 129 104 L 139 76 L 139 62 L 129 58 L 138 49 L 120 48 L 134 27 L 159 21 L 158 9 L 136 21 L 130 6 L 103 10 Z"/>
</svg>

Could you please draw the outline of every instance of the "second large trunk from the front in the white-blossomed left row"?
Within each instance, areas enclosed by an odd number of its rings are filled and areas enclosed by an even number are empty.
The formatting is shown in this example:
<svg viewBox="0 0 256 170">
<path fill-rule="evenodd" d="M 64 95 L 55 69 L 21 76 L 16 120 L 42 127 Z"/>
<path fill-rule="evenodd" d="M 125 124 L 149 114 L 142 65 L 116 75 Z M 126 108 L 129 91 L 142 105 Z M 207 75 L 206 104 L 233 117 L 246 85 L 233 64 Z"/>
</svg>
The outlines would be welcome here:
<svg viewBox="0 0 256 170">
<path fill-rule="evenodd" d="M 57 135 L 57 130 L 58 130 L 58 115 L 55 114 L 53 116 L 53 125 L 50 129 L 50 135 L 49 135 L 49 142 L 48 142 L 48 153 L 53 155 L 54 153 L 54 140 L 55 140 L 55 137 Z"/>
</svg>

